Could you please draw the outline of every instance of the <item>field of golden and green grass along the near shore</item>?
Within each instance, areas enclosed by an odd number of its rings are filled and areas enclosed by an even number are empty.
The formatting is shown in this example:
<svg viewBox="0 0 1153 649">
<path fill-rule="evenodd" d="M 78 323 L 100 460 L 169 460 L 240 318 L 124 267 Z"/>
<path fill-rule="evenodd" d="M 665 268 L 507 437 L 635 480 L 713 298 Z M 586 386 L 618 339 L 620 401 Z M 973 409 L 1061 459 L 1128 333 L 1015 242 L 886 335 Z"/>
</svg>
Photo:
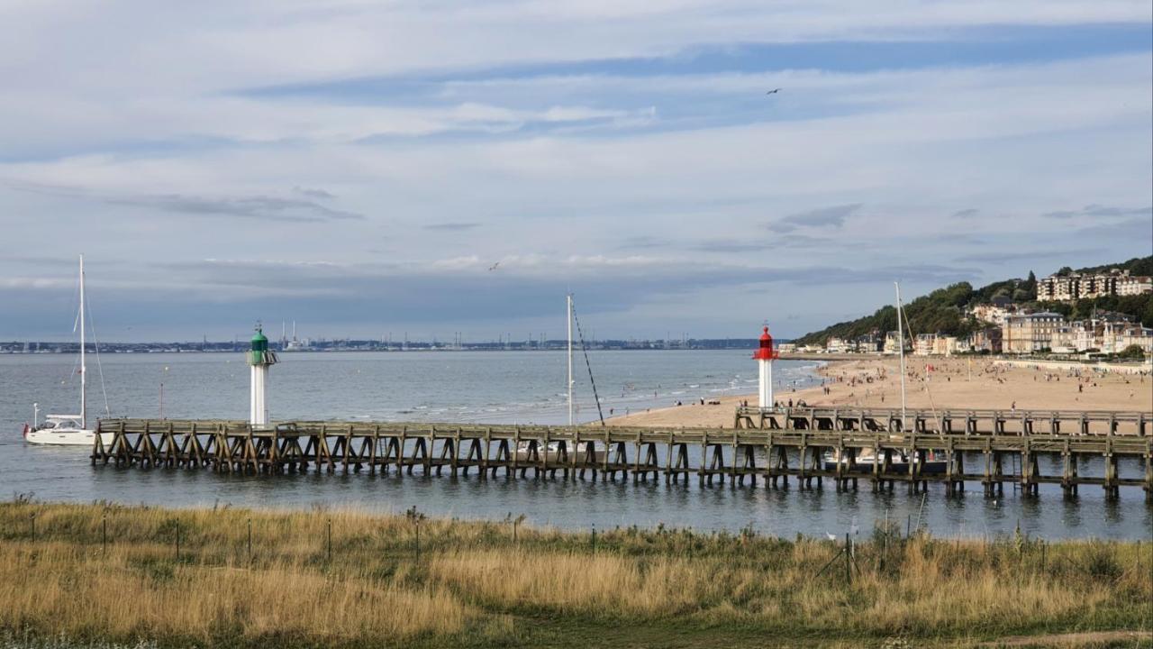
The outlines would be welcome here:
<svg viewBox="0 0 1153 649">
<path fill-rule="evenodd" d="M 20 500 L 0 503 L 0 646 L 1151 646 L 1151 543 L 843 546 Z"/>
</svg>

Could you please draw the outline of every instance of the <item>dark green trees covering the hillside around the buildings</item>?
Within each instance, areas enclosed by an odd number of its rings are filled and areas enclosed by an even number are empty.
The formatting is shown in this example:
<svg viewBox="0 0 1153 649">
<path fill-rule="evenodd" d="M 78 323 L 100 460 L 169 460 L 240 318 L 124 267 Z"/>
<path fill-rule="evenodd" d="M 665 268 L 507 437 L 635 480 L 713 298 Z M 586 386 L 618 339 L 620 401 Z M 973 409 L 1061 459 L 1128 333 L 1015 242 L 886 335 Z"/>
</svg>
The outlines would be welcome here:
<svg viewBox="0 0 1153 649">
<path fill-rule="evenodd" d="M 1097 266 L 1072 270 L 1069 267 L 1057 271 L 1058 275 L 1071 273 L 1106 273 L 1110 269 L 1129 270 L 1131 275 L 1153 275 L 1153 255 L 1135 258 L 1123 263 Z M 921 296 L 904 305 L 905 318 L 909 320 L 909 331 L 912 334 L 944 334 L 948 336 L 967 336 L 984 324 L 966 309 L 978 304 L 1008 303 L 1033 311 L 1052 311 L 1069 320 L 1082 320 L 1092 316 L 1094 311 L 1111 311 L 1123 313 L 1145 327 L 1153 327 L 1153 293 L 1140 296 L 1107 296 L 1080 299 L 1070 303 L 1038 301 L 1037 276 L 1028 273 L 1025 279 L 1004 279 L 994 282 L 980 289 L 974 289 L 969 282 L 958 282 L 943 289 L 937 289 L 927 296 Z M 897 309 L 894 306 L 879 308 L 872 315 L 838 322 L 820 331 L 812 331 L 797 338 L 797 344 L 826 344 L 829 338 L 856 340 L 874 331 L 884 335 L 897 330 Z"/>
</svg>

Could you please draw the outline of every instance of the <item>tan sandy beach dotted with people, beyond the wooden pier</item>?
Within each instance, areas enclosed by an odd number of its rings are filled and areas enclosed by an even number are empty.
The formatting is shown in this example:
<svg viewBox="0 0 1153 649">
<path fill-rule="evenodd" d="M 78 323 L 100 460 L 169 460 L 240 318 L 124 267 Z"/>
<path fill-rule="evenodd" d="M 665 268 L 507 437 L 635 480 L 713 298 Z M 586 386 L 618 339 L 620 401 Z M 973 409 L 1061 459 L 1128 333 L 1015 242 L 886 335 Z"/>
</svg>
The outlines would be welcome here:
<svg viewBox="0 0 1153 649">
<path fill-rule="evenodd" d="M 909 408 L 1153 412 L 1153 378 L 1148 375 L 1012 367 L 984 358 L 906 358 L 905 370 Z M 899 372 L 895 358 L 836 361 L 817 370 L 823 386 L 799 390 L 777 387 L 774 396 L 781 404 L 899 406 Z M 736 406 L 743 401 L 755 404 L 756 395 L 718 401 L 718 405 L 689 403 L 633 412 L 609 424 L 729 427 Z"/>
</svg>

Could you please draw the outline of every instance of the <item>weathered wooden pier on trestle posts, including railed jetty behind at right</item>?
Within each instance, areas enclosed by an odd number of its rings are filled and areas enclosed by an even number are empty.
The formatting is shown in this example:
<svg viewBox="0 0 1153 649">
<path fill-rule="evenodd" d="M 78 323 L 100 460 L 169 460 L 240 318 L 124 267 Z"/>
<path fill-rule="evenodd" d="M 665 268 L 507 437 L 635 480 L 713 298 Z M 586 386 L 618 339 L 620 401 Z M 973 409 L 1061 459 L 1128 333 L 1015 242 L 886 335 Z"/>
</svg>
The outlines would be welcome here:
<svg viewBox="0 0 1153 649">
<path fill-rule="evenodd" d="M 397 475 L 658 480 L 701 485 L 874 491 L 966 483 L 986 495 L 1041 484 L 1067 495 L 1099 485 L 1109 498 L 1143 487 L 1153 502 L 1153 435 L 1144 412 L 782 409 L 737 411 L 734 428 L 513 426 L 366 422 L 104 419 L 93 464 L 284 473 L 337 470 Z M 1048 457 L 1048 462 L 1041 460 Z M 1099 471 L 1084 471 L 1099 458 Z M 1042 464 L 1050 467 L 1046 473 Z M 1122 467 L 1128 467 L 1128 473 Z M 934 469 L 934 470 L 929 470 Z"/>
</svg>

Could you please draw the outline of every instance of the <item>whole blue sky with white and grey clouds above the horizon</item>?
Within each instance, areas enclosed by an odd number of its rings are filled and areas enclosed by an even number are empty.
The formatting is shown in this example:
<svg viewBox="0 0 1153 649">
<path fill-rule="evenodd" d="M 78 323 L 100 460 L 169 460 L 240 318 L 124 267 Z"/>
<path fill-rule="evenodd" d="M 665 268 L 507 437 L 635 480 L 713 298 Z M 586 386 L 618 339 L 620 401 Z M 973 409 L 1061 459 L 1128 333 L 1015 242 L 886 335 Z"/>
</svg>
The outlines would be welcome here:
<svg viewBox="0 0 1153 649">
<path fill-rule="evenodd" d="M 82 253 L 110 342 L 791 337 L 1148 255 L 1151 12 L 0 0 L 0 341 Z"/>
</svg>

